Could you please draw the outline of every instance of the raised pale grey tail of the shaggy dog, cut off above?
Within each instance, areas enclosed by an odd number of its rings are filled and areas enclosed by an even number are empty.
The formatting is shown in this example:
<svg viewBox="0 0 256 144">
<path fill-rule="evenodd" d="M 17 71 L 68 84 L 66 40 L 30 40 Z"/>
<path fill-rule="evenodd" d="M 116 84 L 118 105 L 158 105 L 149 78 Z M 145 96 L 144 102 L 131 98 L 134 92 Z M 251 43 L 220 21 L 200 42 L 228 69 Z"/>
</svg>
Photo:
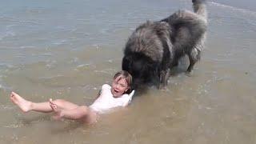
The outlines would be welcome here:
<svg viewBox="0 0 256 144">
<path fill-rule="evenodd" d="M 206 0 L 192 0 L 194 13 L 207 19 Z"/>
</svg>

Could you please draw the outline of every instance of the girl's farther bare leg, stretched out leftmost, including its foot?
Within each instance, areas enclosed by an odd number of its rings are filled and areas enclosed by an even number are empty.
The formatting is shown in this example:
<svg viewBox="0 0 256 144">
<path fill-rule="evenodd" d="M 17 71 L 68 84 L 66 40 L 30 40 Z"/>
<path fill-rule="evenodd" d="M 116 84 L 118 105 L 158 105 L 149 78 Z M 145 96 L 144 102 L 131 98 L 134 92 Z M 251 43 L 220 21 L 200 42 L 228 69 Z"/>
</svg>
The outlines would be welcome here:
<svg viewBox="0 0 256 144">
<path fill-rule="evenodd" d="M 14 104 L 19 106 L 19 108 L 23 112 L 34 110 L 42 113 L 49 113 L 53 111 L 53 109 L 50 107 L 49 102 L 30 102 L 14 92 L 11 92 L 10 99 L 12 102 L 14 102 Z M 58 104 L 59 108 L 64 110 L 71 110 L 78 107 L 78 105 L 75 105 L 74 103 L 67 102 L 62 99 L 57 99 L 54 101 L 54 103 Z"/>
</svg>

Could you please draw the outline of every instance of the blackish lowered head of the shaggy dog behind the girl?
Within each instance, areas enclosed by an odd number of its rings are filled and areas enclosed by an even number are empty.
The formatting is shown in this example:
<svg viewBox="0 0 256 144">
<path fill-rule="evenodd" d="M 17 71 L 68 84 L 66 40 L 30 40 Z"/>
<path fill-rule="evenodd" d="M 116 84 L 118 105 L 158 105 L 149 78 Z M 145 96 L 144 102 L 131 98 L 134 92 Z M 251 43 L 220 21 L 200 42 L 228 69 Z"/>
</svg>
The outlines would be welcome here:
<svg viewBox="0 0 256 144">
<path fill-rule="evenodd" d="M 158 83 L 158 62 L 144 54 L 126 54 L 122 58 L 122 70 L 128 71 L 133 76 L 133 88 L 145 84 Z"/>
</svg>

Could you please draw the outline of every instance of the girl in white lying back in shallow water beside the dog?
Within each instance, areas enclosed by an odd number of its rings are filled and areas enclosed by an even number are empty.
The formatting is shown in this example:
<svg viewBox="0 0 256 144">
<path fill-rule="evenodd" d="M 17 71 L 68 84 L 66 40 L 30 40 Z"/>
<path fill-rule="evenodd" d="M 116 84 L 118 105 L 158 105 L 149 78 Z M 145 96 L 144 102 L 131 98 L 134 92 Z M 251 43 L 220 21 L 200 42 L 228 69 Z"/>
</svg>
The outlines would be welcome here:
<svg viewBox="0 0 256 144">
<path fill-rule="evenodd" d="M 62 99 L 52 101 L 51 98 L 49 102 L 30 102 L 14 92 L 11 92 L 10 99 L 23 112 L 30 110 L 42 113 L 54 112 L 54 119 L 67 118 L 94 123 L 98 114 L 105 113 L 114 107 L 128 106 L 134 95 L 134 90 L 130 93 L 131 83 L 131 75 L 127 71 L 119 71 L 114 75 L 112 86 L 104 84 L 98 97 L 90 106 L 78 106 Z"/>
</svg>

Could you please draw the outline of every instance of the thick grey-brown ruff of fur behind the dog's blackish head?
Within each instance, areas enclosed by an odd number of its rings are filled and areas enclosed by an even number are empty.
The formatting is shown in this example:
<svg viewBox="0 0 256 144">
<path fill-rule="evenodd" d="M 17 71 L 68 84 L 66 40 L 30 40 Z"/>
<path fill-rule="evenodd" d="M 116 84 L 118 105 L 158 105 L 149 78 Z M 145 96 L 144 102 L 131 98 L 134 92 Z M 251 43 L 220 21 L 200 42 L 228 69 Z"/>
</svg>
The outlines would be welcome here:
<svg viewBox="0 0 256 144">
<path fill-rule="evenodd" d="M 163 45 L 171 46 L 170 26 L 166 22 L 146 22 L 130 35 L 124 50 L 125 55 L 140 53 L 155 62 L 162 61 Z M 166 43 L 167 42 L 167 43 Z M 164 44 L 163 44 L 164 43 Z"/>
</svg>

